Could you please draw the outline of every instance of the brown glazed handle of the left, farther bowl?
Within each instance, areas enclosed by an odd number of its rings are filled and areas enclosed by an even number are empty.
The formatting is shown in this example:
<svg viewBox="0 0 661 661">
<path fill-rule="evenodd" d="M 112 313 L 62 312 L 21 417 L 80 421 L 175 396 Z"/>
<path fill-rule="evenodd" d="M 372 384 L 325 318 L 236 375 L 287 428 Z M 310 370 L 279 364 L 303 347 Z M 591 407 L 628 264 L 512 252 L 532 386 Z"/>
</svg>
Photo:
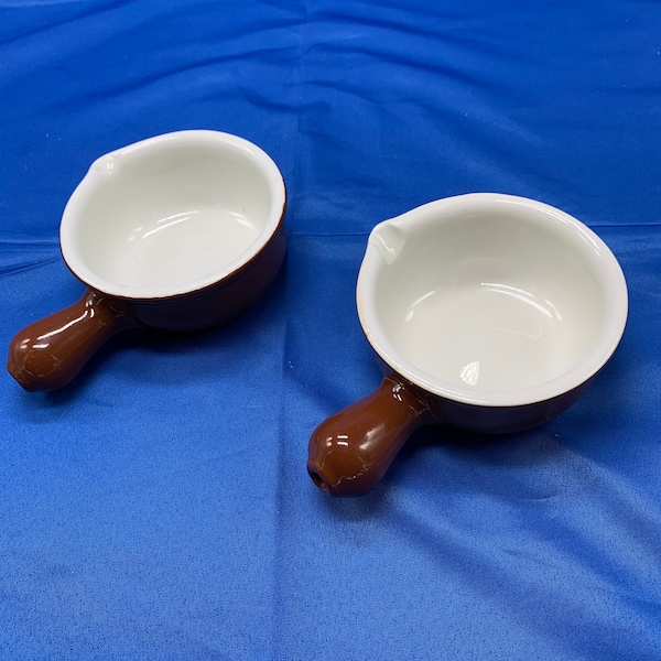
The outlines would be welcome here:
<svg viewBox="0 0 661 661">
<path fill-rule="evenodd" d="M 93 290 L 73 305 L 19 332 L 7 369 L 25 389 L 57 390 L 69 383 L 112 335 L 139 324 Z"/>
</svg>

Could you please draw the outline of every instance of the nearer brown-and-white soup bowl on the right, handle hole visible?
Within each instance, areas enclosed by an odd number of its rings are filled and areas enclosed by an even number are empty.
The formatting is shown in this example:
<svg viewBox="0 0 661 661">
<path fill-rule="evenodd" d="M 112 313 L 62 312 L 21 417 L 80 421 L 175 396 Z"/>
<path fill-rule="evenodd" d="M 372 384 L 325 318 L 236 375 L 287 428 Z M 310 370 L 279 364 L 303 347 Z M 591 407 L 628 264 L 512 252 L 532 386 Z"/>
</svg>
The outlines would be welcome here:
<svg viewBox="0 0 661 661">
<path fill-rule="evenodd" d="M 588 227 L 477 193 L 377 225 L 357 305 L 383 380 L 312 434 L 310 476 L 336 496 L 377 485 L 421 425 L 503 434 L 560 414 L 618 346 L 628 295 Z"/>
</svg>

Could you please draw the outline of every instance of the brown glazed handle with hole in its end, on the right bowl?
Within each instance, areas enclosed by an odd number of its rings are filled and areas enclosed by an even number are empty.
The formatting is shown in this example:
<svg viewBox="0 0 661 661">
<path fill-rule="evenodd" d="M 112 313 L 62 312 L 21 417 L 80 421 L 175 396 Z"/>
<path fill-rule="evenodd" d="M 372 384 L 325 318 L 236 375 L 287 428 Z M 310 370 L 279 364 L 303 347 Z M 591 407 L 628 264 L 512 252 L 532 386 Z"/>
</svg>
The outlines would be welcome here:
<svg viewBox="0 0 661 661">
<path fill-rule="evenodd" d="M 360 496 L 386 475 L 418 427 L 435 422 L 426 402 L 393 377 L 312 434 L 307 472 L 332 496 Z"/>
</svg>

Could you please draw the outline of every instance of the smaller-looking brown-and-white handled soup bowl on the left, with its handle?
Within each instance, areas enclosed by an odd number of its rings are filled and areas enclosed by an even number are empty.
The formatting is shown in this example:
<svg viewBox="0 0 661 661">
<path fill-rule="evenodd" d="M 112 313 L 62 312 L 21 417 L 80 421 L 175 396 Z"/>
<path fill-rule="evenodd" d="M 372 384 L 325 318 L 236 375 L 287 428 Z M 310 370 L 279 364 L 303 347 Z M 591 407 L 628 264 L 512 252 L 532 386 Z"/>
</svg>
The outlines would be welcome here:
<svg viewBox="0 0 661 661">
<path fill-rule="evenodd" d="M 94 162 L 61 223 L 83 297 L 19 332 L 7 367 L 26 390 L 69 383 L 112 335 L 228 322 L 283 262 L 286 193 L 260 148 L 194 130 L 150 138 Z"/>
</svg>

